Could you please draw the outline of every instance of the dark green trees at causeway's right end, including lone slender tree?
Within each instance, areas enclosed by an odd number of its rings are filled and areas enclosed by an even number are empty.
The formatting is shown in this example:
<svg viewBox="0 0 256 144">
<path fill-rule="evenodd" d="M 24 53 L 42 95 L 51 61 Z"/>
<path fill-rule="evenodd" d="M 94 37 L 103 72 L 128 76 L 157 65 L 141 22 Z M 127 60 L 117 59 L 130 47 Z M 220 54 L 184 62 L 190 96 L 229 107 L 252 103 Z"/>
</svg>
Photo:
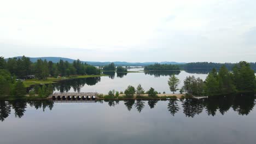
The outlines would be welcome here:
<svg viewBox="0 0 256 144">
<path fill-rule="evenodd" d="M 232 72 L 223 65 L 218 71 L 213 68 L 203 81 L 200 77 L 188 76 L 184 80 L 180 92 L 187 92 L 189 95 L 222 95 L 235 92 L 256 91 L 256 79 L 254 70 L 247 62 L 240 62 L 234 65 Z M 178 90 L 179 80 L 172 75 L 168 81 L 170 90 L 174 93 Z"/>
</svg>

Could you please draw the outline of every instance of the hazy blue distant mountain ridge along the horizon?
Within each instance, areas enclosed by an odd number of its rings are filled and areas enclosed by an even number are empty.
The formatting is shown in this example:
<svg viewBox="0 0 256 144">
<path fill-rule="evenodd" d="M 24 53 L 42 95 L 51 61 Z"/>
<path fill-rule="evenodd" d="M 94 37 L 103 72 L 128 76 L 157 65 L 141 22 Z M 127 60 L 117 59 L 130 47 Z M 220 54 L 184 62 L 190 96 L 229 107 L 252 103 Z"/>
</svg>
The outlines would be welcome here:
<svg viewBox="0 0 256 144">
<path fill-rule="evenodd" d="M 21 58 L 21 57 L 16 57 L 16 58 Z M 69 63 L 73 63 L 75 59 L 71 58 L 64 58 L 64 57 L 30 57 L 31 62 L 36 62 L 37 59 L 46 59 L 46 61 L 52 61 L 54 63 L 57 63 L 62 59 L 63 61 L 68 61 Z M 92 62 L 92 61 L 82 61 L 86 62 L 90 65 L 94 66 L 103 66 L 103 65 L 108 65 L 112 62 Z M 160 64 L 186 64 L 186 63 L 178 63 L 178 62 L 144 62 L 144 63 L 130 63 L 130 62 L 113 62 L 117 66 L 145 66 L 145 65 L 150 65 L 154 63 L 160 63 Z"/>
</svg>

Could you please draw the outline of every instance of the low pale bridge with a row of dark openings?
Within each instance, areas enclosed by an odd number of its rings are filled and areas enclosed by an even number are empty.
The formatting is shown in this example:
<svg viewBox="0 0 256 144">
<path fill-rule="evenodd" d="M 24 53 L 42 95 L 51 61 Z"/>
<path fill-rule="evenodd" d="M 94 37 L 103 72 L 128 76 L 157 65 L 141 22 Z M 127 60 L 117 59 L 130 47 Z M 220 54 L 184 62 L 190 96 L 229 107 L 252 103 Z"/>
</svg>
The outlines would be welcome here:
<svg viewBox="0 0 256 144">
<path fill-rule="evenodd" d="M 94 92 L 81 92 L 81 93 L 53 93 L 49 95 L 49 99 L 57 101 L 90 101 L 97 99 L 97 94 Z"/>
</svg>

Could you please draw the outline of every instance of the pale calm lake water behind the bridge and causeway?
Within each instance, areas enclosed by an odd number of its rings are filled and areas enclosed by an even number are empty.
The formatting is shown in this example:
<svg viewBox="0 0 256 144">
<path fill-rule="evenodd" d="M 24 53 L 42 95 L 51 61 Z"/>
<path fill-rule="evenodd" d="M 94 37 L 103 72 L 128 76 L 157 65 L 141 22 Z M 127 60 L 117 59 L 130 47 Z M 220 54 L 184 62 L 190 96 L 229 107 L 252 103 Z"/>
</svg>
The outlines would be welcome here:
<svg viewBox="0 0 256 144">
<path fill-rule="evenodd" d="M 130 69 L 131 71 L 143 70 L 142 68 Z M 148 91 L 150 87 L 155 88 L 158 92 L 171 93 L 168 86 L 168 78 L 175 74 L 181 81 L 179 88 L 183 86 L 183 81 L 187 76 L 194 75 L 205 80 L 208 70 L 188 70 L 188 71 L 158 71 L 150 73 L 114 73 L 105 72 L 108 76 L 91 77 L 87 79 L 77 79 L 62 81 L 56 83 L 55 92 L 98 92 L 107 94 L 110 90 L 125 91 L 127 86 L 137 87 L 139 84 Z M 178 91 L 176 93 L 179 93 Z"/>
</svg>

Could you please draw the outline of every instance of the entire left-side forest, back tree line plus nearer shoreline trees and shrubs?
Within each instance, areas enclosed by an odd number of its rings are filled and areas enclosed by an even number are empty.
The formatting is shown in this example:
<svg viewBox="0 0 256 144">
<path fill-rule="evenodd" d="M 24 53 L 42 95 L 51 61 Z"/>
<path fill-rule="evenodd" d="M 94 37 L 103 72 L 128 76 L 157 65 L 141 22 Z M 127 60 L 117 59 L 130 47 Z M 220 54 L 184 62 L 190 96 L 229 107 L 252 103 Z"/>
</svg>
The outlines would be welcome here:
<svg viewBox="0 0 256 144">
<path fill-rule="evenodd" d="M 8 58 L 5 60 L 0 57 L 0 96 L 23 96 L 26 94 L 24 79 L 46 79 L 47 77 L 70 76 L 70 75 L 99 75 L 101 70 L 86 63 L 74 61 L 68 63 L 62 61 L 53 63 L 51 61 L 38 59 L 32 63 L 30 58 L 25 56 L 21 58 Z M 34 89 L 31 95 L 39 96 L 49 95 L 53 86 L 43 86 L 40 89 Z"/>
</svg>

